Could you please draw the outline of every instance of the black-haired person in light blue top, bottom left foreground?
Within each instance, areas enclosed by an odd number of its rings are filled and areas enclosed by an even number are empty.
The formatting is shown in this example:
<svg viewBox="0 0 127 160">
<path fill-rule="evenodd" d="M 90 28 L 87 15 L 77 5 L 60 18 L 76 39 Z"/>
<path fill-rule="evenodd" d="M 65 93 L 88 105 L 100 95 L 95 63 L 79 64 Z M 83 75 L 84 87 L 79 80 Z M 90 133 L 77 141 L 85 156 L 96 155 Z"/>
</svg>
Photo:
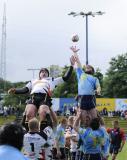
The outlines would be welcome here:
<svg viewBox="0 0 127 160">
<path fill-rule="evenodd" d="M 0 128 L 0 159 L 27 160 L 20 152 L 23 146 L 23 129 L 19 124 L 8 123 Z"/>
</svg>

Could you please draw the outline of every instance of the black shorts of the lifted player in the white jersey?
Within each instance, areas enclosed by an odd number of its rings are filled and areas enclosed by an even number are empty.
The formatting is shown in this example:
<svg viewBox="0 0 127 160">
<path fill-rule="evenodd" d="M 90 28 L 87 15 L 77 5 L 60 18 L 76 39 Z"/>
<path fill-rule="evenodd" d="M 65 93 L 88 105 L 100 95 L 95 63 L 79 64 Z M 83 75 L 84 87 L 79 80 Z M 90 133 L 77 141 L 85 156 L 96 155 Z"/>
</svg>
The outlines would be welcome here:
<svg viewBox="0 0 127 160">
<path fill-rule="evenodd" d="M 35 93 L 27 101 L 27 104 L 34 104 L 37 107 L 37 109 L 39 109 L 41 105 L 47 105 L 51 107 L 52 98 L 45 93 Z"/>
</svg>

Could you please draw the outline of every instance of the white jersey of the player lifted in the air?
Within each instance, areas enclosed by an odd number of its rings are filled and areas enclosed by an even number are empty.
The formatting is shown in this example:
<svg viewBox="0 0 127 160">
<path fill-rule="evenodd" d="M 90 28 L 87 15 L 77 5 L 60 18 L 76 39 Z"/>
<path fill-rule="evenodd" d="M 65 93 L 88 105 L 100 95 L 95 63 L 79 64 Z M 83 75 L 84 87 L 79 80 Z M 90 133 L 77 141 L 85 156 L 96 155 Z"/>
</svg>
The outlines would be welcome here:
<svg viewBox="0 0 127 160">
<path fill-rule="evenodd" d="M 41 80 L 35 79 L 30 81 L 26 87 L 29 89 L 30 93 L 51 93 L 51 91 L 53 91 L 53 89 L 63 83 L 64 80 L 62 77 L 58 77 L 58 78 L 52 78 L 52 77 L 48 77 L 48 78 L 43 78 Z"/>
</svg>

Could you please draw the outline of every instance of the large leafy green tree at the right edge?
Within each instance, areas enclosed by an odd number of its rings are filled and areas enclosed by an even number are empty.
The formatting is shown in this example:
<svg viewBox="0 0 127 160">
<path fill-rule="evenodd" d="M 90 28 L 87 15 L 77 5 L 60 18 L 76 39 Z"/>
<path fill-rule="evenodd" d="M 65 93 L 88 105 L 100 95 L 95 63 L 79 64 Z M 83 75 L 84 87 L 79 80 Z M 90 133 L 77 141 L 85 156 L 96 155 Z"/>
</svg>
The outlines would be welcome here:
<svg viewBox="0 0 127 160">
<path fill-rule="evenodd" d="M 127 53 L 110 61 L 103 84 L 105 97 L 125 98 L 127 96 Z"/>
</svg>

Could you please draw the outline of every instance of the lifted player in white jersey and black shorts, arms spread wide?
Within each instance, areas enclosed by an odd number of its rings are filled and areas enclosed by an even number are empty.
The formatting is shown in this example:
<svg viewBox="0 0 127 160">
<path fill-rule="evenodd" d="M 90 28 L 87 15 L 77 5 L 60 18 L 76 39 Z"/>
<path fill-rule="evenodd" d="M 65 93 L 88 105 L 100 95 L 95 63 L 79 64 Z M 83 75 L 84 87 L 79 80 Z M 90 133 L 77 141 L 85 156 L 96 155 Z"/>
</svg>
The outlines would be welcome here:
<svg viewBox="0 0 127 160">
<path fill-rule="evenodd" d="M 46 119 L 46 113 L 48 112 L 47 106 L 50 107 L 52 105 L 51 92 L 57 85 L 69 79 L 73 71 L 73 65 L 75 63 L 74 61 L 74 56 L 72 56 L 70 58 L 71 66 L 69 67 L 68 71 L 65 73 L 63 77 L 51 78 L 49 77 L 49 71 L 46 68 L 42 68 L 39 72 L 39 79 L 30 81 L 23 88 L 11 88 L 8 91 L 8 93 L 13 94 L 30 93 L 31 99 L 28 101 L 28 104 L 26 105 L 24 114 L 24 119 L 26 119 L 27 121 L 26 127 L 28 126 L 28 121 L 36 116 L 37 111 L 39 113 L 41 122 L 43 122 Z M 52 111 L 52 109 L 50 109 L 49 113 L 51 115 L 52 121 L 54 122 L 53 125 L 56 126 L 57 118 L 55 116 L 55 113 Z M 41 126 L 43 126 L 43 124 Z"/>
</svg>

